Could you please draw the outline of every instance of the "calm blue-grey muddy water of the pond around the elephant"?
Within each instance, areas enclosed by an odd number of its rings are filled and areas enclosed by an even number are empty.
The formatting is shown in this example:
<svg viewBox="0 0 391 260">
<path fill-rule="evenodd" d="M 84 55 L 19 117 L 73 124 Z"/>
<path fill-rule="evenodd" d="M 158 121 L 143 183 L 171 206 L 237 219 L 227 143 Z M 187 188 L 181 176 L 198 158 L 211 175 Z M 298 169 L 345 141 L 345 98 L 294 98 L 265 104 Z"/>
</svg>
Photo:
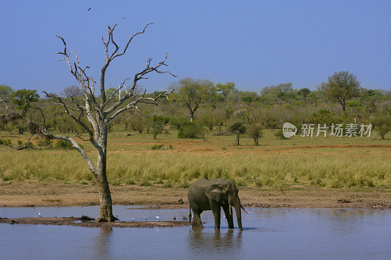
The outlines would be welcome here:
<svg viewBox="0 0 391 260">
<path fill-rule="evenodd" d="M 189 210 L 127 209 L 114 206 L 120 220 L 177 220 Z M 97 206 L 0 208 L 0 217 L 95 216 Z M 250 208 L 244 231 L 206 227 L 85 228 L 0 224 L 0 258 L 6 259 L 390 259 L 391 210 Z M 221 214 L 223 216 L 223 213 Z M 236 220 L 235 227 L 237 227 Z"/>
</svg>

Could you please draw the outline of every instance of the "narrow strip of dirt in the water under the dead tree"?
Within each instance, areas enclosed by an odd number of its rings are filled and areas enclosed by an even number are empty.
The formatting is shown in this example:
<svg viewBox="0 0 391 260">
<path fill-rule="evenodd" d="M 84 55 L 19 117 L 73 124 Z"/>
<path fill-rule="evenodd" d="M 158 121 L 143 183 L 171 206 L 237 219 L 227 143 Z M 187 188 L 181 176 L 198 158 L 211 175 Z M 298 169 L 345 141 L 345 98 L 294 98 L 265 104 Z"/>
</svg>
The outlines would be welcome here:
<svg viewBox="0 0 391 260">
<path fill-rule="evenodd" d="M 95 222 L 80 218 L 0 218 L 0 223 L 34 224 L 34 225 L 68 225 L 82 227 L 182 227 L 188 226 L 189 221 L 116 221 Z"/>
</svg>

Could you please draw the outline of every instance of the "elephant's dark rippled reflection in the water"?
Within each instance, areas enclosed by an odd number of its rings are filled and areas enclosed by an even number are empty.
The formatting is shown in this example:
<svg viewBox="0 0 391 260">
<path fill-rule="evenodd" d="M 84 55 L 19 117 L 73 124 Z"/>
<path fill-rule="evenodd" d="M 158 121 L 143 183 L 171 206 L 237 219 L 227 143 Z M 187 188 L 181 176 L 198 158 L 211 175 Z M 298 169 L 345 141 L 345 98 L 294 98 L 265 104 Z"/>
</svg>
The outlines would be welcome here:
<svg viewBox="0 0 391 260">
<path fill-rule="evenodd" d="M 243 244 L 242 233 L 242 231 L 232 229 L 216 229 L 213 232 L 189 230 L 187 242 L 189 248 L 196 253 L 218 253 L 221 251 L 237 253 Z"/>
</svg>

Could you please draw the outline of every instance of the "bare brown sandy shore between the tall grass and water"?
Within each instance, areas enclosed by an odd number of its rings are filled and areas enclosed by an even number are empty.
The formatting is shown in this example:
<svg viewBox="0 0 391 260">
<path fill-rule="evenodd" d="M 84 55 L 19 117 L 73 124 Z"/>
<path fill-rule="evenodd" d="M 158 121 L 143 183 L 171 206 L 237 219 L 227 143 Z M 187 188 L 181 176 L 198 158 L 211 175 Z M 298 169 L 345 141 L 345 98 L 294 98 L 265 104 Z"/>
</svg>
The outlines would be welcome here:
<svg viewBox="0 0 391 260">
<path fill-rule="evenodd" d="M 160 208 L 188 208 L 187 190 L 136 185 L 110 186 L 114 204 L 152 205 Z M 391 189 L 387 188 L 239 188 L 246 207 L 291 208 L 391 208 Z M 55 182 L 0 182 L 0 206 L 87 206 L 99 204 L 95 184 Z"/>
</svg>

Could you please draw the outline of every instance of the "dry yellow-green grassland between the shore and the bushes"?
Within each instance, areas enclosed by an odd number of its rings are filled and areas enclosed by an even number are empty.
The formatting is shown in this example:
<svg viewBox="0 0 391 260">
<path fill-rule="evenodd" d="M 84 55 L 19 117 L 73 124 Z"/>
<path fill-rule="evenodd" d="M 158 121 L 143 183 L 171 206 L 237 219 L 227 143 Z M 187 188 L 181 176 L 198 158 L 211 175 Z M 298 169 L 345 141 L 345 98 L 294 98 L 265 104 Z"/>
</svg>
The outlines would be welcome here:
<svg viewBox="0 0 391 260">
<path fill-rule="evenodd" d="M 186 188 L 199 178 L 225 178 L 239 186 L 264 188 L 391 187 L 390 140 L 372 137 L 300 137 L 278 140 L 265 130 L 260 145 L 245 136 L 208 135 L 208 140 L 160 134 L 113 132 L 108 143 L 108 178 L 112 185 Z M 27 135 L 0 132 L 3 139 Z M 387 136 L 386 136 L 387 138 Z M 36 144 L 38 139 L 33 138 Z M 94 148 L 80 141 L 95 160 Z M 163 144 L 157 150 L 152 146 Z M 1 182 L 94 183 L 86 162 L 73 150 L 37 146 L 16 150 L 0 146 Z"/>
</svg>

